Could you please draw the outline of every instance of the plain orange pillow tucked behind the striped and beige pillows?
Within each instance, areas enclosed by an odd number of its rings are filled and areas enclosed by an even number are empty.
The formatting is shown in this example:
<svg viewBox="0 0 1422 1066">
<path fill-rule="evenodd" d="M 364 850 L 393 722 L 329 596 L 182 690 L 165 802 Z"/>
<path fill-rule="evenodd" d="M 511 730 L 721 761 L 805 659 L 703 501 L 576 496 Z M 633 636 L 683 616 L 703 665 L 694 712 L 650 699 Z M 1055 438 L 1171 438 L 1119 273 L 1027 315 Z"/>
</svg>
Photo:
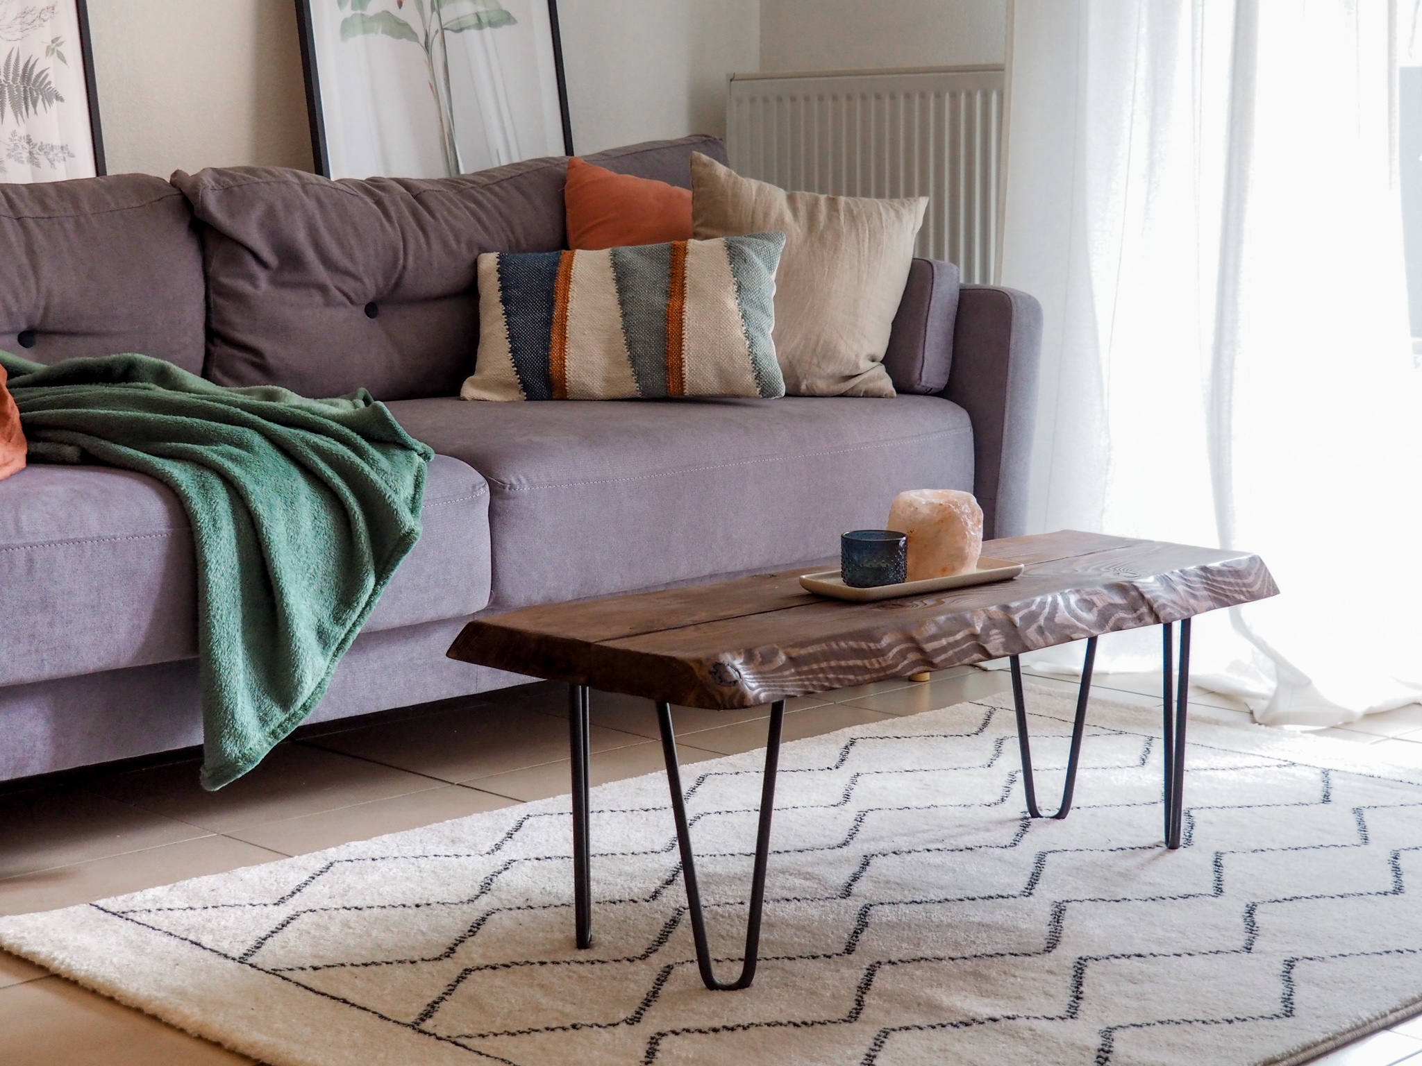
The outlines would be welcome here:
<svg viewBox="0 0 1422 1066">
<path fill-rule="evenodd" d="M 691 189 L 567 161 L 567 246 L 597 252 L 691 240 Z"/>
</svg>

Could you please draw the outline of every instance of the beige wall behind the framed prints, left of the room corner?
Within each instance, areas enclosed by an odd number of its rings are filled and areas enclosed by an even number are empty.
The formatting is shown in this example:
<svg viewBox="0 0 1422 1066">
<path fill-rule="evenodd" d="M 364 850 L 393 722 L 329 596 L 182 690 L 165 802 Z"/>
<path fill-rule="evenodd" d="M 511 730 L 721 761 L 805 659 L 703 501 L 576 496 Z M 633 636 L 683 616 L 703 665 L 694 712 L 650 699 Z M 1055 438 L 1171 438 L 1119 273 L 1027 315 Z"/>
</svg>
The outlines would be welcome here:
<svg viewBox="0 0 1422 1066">
<path fill-rule="evenodd" d="M 109 173 L 310 169 L 293 0 L 90 0 Z M 725 131 L 759 0 L 562 0 L 579 152 Z"/>
</svg>

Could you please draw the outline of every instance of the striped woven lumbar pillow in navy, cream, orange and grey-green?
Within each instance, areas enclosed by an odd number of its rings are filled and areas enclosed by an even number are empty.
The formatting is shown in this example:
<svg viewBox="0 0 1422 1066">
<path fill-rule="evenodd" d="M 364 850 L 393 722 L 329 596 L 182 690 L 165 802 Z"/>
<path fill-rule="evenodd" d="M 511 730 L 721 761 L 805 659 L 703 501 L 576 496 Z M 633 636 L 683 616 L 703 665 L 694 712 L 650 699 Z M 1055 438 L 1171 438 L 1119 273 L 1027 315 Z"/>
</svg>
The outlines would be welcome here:
<svg viewBox="0 0 1422 1066">
<path fill-rule="evenodd" d="M 465 399 L 784 397 L 775 267 L 784 233 L 479 256 L 479 354 Z"/>
</svg>

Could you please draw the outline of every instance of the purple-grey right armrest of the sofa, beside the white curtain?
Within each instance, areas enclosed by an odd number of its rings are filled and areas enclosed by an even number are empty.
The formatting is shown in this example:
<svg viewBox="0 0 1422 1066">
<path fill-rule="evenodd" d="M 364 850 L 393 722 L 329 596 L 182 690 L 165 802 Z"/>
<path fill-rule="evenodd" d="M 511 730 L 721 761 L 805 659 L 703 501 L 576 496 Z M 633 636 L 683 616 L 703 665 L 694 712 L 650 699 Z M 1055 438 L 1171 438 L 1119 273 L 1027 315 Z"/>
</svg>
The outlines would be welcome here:
<svg viewBox="0 0 1422 1066">
<path fill-rule="evenodd" d="M 940 395 L 973 419 L 973 493 L 983 537 L 1027 532 L 1027 489 L 1037 418 L 1042 306 L 1015 289 L 963 286 L 953 368 Z"/>
</svg>

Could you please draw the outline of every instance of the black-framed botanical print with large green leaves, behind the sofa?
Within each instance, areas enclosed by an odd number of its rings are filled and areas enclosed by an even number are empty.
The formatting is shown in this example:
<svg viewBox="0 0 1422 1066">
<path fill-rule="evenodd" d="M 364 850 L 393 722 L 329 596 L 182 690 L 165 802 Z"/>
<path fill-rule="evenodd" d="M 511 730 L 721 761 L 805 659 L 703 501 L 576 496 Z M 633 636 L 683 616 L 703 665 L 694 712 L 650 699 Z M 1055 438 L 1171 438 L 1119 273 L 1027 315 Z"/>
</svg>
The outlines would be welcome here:
<svg viewBox="0 0 1422 1066">
<path fill-rule="evenodd" d="M 327 178 L 444 178 L 572 155 L 555 0 L 296 10 L 311 151 Z"/>
</svg>

